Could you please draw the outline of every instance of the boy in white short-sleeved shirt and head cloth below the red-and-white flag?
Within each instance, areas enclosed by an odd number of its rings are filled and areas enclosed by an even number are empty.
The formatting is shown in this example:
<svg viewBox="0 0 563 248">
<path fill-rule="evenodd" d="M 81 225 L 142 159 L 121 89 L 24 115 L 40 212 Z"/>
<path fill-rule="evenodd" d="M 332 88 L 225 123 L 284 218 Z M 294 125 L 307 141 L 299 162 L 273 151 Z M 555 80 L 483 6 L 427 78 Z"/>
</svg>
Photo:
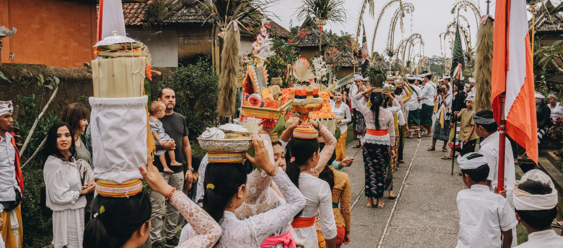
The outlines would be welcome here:
<svg viewBox="0 0 563 248">
<path fill-rule="evenodd" d="M 512 227 L 518 223 L 503 195 L 489 191 L 487 159 L 478 153 L 458 156 L 463 183 L 470 189 L 459 191 L 459 235 L 456 248 L 512 246 Z M 502 239 L 501 239 L 502 233 Z"/>
</svg>

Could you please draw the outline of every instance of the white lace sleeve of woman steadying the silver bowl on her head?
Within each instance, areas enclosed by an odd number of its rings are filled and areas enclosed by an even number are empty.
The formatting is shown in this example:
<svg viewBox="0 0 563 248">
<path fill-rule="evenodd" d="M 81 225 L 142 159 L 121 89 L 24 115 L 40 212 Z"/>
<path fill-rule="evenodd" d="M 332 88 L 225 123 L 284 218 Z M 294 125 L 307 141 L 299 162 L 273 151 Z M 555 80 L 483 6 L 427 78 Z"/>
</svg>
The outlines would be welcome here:
<svg viewBox="0 0 563 248">
<path fill-rule="evenodd" d="M 287 226 L 289 221 L 305 206 L 305 197 L 301 191 L 289 180 L 284 171 L 278 169 L 272 180 L 276 183 L 285 198 L 285 203 L 266 212 L 253 215 L 244 222 L 248 223 L 256 239 L 256 244 L 261 244 L 275 231 Z M 250 244 L 249 244 L 250 245 Z"/>
</svg>

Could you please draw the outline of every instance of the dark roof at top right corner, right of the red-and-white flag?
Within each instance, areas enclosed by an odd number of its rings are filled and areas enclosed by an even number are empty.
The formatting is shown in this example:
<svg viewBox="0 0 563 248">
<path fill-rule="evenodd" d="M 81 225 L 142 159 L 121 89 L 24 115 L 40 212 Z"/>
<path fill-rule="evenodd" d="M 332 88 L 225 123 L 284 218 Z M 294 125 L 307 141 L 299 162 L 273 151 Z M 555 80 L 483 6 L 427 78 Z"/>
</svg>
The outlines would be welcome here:
<svg viewBox="0 0 563 248">
<path fill-rule="evenodd" d="M 551 1 L 547 1 L 543 6 L 539 7 L 538 13 L 535 14 L 535 33 L 563 33 L 563 16 L 560 11 L 563 10 L 563 2 L 557 7 L 553 7 Z M 531 29 L 532 21 L 528 21 Z"/>
</svg>

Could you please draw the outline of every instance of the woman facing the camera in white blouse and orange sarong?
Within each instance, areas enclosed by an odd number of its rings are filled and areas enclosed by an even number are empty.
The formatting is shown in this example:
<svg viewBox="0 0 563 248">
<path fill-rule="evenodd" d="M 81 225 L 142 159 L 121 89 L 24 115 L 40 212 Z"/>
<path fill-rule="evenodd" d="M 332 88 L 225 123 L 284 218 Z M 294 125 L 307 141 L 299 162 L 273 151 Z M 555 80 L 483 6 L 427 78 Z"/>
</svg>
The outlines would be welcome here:
<svg viewBox="0 0 563 248">
<path fill-rule="evenodd" d="M 342 101 L 341 93 L 334 93 L 334 102 L 330 103 L 330 108 L 336 116 L 336 122 L 342 134 L 336 143 L 336 161 L 341 162 L 346 158 L 346 136 L 348 131 L 348 123 L 352 121 L 350 107 Z"/>
</svg>

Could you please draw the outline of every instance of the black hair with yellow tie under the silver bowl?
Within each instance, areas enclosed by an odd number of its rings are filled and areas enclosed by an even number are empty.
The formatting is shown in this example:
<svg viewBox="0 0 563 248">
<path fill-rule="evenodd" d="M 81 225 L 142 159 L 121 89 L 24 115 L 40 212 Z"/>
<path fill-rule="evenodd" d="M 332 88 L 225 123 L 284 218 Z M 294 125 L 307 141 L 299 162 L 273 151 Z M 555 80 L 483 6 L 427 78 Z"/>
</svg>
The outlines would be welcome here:
<svg viewBox="0 0 563 248">
<path fill-rule="evenodd" d="M 315 139 L 316 141 L 316 139 Z M 252 168 L 252 167 L 251 167 Z M 247 168 L 242 163 L 209 163 L 205 168 L 203 209 L 216 222 L 223 218 L 225 207 L 239 187 L 246 183 Z"/>
</svg>

